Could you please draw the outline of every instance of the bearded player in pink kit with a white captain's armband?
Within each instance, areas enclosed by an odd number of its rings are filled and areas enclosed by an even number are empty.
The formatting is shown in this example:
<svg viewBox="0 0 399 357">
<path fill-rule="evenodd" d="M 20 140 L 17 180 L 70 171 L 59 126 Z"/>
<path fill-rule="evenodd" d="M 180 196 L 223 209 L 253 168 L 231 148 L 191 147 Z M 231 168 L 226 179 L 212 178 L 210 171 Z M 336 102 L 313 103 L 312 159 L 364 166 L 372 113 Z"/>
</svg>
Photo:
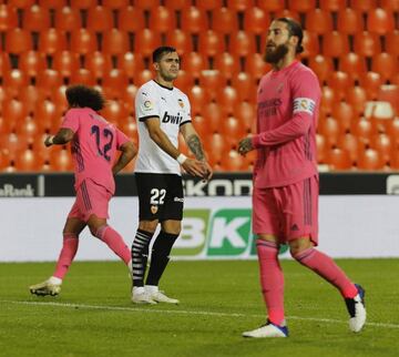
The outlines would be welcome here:
<svg viewBox="0 0 399 357">
<path fill-rule="evenodd" d="M 273 70 L 260 80 L 257 94 L 257 134 L 243 139 L 238 152 L 257 150 L 254 169 L 253 231 L 257 235 L 260 285 L 268 319 L 244 337 L 287 337 L 284 275 L 278 262 L 280 244 L 332 284 L 349 313 L 349 328 L 360 332 L 366 322 L 365 290 L 334 261 L 317 251 L 318 191 L 316 128 L 320 88 L 315 73 L 296 60 L 303 51 L 303 30 L 291 19 L 269 27 L 266 62 Z"/>
</svg>

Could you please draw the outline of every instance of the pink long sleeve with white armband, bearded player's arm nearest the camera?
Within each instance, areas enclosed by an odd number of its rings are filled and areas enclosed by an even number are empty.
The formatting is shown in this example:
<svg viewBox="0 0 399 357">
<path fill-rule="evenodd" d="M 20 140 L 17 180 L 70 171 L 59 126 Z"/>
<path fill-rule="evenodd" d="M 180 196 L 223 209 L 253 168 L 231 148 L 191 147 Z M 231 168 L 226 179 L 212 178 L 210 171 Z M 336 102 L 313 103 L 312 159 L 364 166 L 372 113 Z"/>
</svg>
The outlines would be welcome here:
<svg viewBox="0 0 399 357">
<path fill-rule="evenodd" d="M 304 71 L 296 75 L 293 80 L 291 93 L 293 118 L 277 129 L 254 135 L 252 140 L 254 147 L 283 144 L 308 132 L 320 98 L 315 74 Z"/>
</svg>

